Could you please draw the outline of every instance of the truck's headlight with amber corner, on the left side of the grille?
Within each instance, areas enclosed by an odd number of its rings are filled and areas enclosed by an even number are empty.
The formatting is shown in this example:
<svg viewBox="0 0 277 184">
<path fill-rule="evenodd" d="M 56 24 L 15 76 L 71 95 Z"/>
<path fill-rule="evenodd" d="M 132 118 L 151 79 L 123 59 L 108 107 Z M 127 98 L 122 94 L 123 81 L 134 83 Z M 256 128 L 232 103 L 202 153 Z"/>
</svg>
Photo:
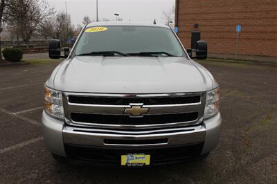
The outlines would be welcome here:
<svg viewBox="0 0 277 184">
<path fill-rule="evenodd" d="M 62 92 L 44 87 L 44 111 L 53 118 L 64 120 Z"/>
</svg>

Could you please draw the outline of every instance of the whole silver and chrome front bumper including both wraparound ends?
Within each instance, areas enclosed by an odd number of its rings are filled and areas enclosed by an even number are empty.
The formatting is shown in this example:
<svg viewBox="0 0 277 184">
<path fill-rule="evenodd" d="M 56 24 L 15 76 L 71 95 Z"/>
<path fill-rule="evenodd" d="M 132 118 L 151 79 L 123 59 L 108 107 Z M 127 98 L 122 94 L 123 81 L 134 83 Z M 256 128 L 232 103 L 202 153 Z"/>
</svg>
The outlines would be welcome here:
<svg viewBox="0 0 277 184">
<path fill-rule="evenodd" d="M 221 116 L 218 113 L 213 118 L 204 120 L 202 125 L 175 129 L 174 131 L 144 132 L 144 134 L 120 134 L 118 131 L 101 131 L 99 129 L 84 129 L 65 126 L 64 122 L 55 120 L 45 112 L 42 115 L 42 127 L 46 147 L 53 153 L 66 156 L 64 144 L 84 145 L 94 147 L 169 147 L 177 145 L 189 145 L 204 142 L 202 154 L 206 154 L 217 145 L 220 136 Z M 143 145 L 106 144 L 109 140 L 156 140 L 167 139 L 167 142 Z"/>
</svg>

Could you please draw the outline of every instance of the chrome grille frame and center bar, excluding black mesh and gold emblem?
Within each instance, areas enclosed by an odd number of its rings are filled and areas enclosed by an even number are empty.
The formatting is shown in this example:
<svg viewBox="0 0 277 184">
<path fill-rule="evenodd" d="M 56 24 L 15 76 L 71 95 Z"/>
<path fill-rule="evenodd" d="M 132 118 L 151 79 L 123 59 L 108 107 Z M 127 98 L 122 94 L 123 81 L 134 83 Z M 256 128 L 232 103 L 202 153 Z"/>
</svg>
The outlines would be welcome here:
<svg viewBox="0 0 277 184">
<path fill-rule="evenodd" d="M 110 124 L 96 124 L 87 122 L 75 122 L 71 120 L 71 113 L 94 113 L 102 115 L 120 115 L 129 116 L 125 114 L 126 108 L 131 108 L 129 105 L 109 105 L 109 104 L 75 104 L 69 102 L 69 95 L 76 96 L 89 96 L 89 97 L 121 97 L 121 98 L 151 98 L 151 97 L 176 97 L 176 96 L 195 96 L 200 95 L 199 103 L 190 104 L 161 104 L 161 105 L 143 105 L 145 108 L 150 110 L 145 115 L 161 115 L 161 114 L 176 114 L 176 113 L 190 113 L 198 112 L 198 118 L 189 122 L 174 122 L 166 124 L 155 124 L 155 125 L 110 125 Z M 66 117 L 66 124 L 72 126 L 82 127 L 95 127 L 95 128 L 118 128 L 118 129 L 149 129 L 149 128 L 165 128 L 165 127 L 181 127 L 184 125 L 197 125 L 202 122 L 204 116 L 204 108 L 206 102 L 206 93 L 165 93 L 165 94 L 104 94 L 104 93 L 63 93 L 63 105 L 64 105 L 64 116 Z M 139 103 L 138 103 L 139 104 Z"/>
</svg>

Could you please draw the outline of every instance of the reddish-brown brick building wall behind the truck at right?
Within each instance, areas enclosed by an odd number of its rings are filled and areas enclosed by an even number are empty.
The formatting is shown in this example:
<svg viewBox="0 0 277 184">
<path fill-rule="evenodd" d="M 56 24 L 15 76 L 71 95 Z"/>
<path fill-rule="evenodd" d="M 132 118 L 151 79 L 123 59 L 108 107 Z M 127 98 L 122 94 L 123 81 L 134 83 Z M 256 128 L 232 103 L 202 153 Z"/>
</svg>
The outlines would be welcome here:
<svg viewBox="0 0 277 184">
<path fill-rule="evenodd" d="M 233 55 L 240 24 L 238 55 L 277 56 L 277 0 L 176 0 L 175 19 L 186 48 L 199 30 L 209 53 Z"/>
</svg>

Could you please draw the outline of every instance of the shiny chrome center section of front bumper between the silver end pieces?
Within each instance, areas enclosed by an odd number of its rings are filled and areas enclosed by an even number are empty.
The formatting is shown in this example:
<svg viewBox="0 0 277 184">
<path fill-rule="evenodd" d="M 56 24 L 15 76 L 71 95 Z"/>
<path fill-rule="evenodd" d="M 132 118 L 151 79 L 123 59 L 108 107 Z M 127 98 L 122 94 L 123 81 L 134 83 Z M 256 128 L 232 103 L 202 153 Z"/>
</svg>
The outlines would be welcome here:
<svg viewBox="0 0 277 184">
<path fill-rule="evenodd" d="M 194 127 L 195 129 L 188 131 L 177 131 L 173 133 L 160 132 L 157 134 L 109 134 L 109 133 L 91 133 L 91 132 L 82 132 L 74 131 L 74 129 L 80 129 L 76 127 L 66 126 L 62 130 L 62 136 L 64 143 L 66 144 L 75 144 L 75 145 L 89 145 L 96 147 L 118 147 L 118 145 L 105 145 L 105 139 L 119 139 L 119 140 L 151 140 L 151 138 L 167 138 L 168 144 L 163 146 L 172 146 L 172 145 L 185 145 L 192 144 L 196 142 L 204 142 L 206 138 L 206 127 L 199 125 Z M 143 147 L 151 147 L 157 145 L 140 145 Z M 132 145 L 120 145 L 120 147 L 132 147 Z"/>
</svg>

